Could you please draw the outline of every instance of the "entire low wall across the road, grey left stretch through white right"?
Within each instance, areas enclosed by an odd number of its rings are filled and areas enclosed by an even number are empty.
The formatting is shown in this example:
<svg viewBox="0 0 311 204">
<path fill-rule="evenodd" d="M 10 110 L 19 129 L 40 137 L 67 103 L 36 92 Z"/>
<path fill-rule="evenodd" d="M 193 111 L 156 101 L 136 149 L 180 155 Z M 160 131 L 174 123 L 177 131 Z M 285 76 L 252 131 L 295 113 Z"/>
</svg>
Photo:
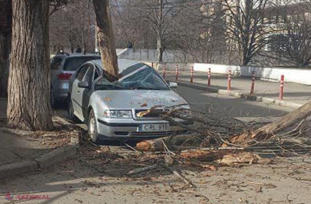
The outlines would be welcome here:
<svg viewBox="0 0 311 204">
<path fill-rule="evenodd" d="M 156 62 L 156 50 L 133 50 L 133 49 L 117 49 L 118 58 L 131 59 L 145 62 Z M 252 71 L 255 71 L 256 77 L 268 80 L 280 80 L 281 75 L 284 75 L 285 82 L 293 82 L 299 84 L 311 85 L 311 70 L 308 69 L 289 69 L 289 68 L 271 68 L 271 67 L 243 67 L 217 64 L 202 64 L 202 63 L 180 63 L 183 62 L 183 56 L 177 51 L 165 52 L 164 62 L 161 65 L 154 63 L 156 68 L 161 69 L 166 65 L 167 70 L 175 70 L 176 64 L 179 64 L 180 70 L 190 70 L 194 66 L 194 71 L 207 72 L 211 68 L 212 73 L 228 74 L 231 70 L 235 76 L 251 76 Z"/>
</svg>

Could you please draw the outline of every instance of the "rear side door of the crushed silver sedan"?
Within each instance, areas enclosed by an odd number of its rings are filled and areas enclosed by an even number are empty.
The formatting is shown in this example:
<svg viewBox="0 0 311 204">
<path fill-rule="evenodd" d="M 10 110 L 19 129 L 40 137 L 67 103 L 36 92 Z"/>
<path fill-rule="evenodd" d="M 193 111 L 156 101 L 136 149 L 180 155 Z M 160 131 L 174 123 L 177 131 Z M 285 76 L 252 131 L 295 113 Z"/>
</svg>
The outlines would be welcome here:
<svg viewBox="0 0 311 204">
<path fill-rule="evenodd" d="M 72 101 L 72 107 L 74 110 L 74 115 L 77 116 L 80 120 L 83 121 L 81 107 L 79 105 L 79 98 L 80 98 L 80 88 L 78 87 L 78 84 L 80 81 L 83 80 L 88 68 L 90 67 L 89 64 L 82 65 L 82 67 L 78 70 L 76 73 L 76 78 L 72 82 L 72 89 L 71 89 L 71 101 Z"/>
</svg>

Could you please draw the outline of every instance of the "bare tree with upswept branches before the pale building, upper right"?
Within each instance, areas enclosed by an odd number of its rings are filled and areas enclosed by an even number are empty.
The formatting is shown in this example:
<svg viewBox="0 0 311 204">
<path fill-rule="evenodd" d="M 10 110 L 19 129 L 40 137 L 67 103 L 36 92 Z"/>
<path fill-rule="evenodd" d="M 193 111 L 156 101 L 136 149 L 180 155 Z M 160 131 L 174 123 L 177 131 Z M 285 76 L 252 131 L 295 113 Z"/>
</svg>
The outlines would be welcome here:
<svg viewBox="0 0 311 204">
<path fill-rule="evenodd" d="M 267 44 L 268 34 L 264 22 L 267 0 L 223 0 L 221 12 L 224 15 L 223 30 L 226 44 L 239 53 L 240 65 L 247 65 Z"/>
</svg>

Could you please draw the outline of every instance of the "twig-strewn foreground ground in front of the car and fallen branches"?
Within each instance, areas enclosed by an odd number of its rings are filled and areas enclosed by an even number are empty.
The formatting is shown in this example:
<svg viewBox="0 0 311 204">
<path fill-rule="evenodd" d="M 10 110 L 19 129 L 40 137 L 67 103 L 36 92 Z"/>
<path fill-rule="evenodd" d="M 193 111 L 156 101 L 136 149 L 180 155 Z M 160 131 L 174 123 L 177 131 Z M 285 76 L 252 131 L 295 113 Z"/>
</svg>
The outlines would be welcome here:
<svg viewBox="0 0 311 204">
<path fill-rule="evenodd" d="M 179 163 L 171 166 L 181 170 L 196 187 L 185 186 L 164 167 L 126 175 L 158 159 L 124 147 L 83 145 L 75 158 L 50 171 L 2 181 L 0 197 L 11 192 L 49 194 L 52 198 L 24 200 L 26 203 L 311 203 L 309 156 L 214 170 Z M 7 202 L 0 199 L 0 203 Z"/>
</svg>

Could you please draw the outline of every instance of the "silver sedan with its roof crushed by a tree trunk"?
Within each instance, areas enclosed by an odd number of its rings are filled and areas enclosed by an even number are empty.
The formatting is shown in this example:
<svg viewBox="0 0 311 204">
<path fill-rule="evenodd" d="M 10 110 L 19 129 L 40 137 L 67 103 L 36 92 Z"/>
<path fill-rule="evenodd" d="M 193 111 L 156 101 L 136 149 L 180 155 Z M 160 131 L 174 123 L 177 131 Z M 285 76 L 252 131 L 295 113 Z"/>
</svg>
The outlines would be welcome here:
<svg viewBox="0 0 311 204">
<path fill-rule="evenodd" d="M 88 125 L 93 142 L 105 140 L 143 140 L 185 131 L 164 120 L 161 110 L 190 109 L 186 100 L 162 76 L 146 64 L 118 60 L 120 79 L 109 82 L 100 60 L 83 64 L 70 79 L 68 115 Z M 186 122 L 180 119 L 185 125 Z"/>
</svg>

